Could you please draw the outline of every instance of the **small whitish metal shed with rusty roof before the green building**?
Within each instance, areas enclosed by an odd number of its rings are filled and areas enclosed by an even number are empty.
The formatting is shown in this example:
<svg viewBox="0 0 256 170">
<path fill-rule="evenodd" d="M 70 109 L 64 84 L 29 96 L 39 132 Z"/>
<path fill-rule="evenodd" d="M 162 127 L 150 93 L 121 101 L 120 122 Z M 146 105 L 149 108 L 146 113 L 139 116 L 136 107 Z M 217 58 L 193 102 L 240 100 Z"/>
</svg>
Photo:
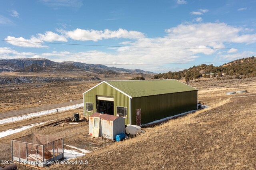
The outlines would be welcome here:
<svg viewBox="0 0 256 170">
<path fill-rule="evenodd" d="M 94 113 L 89 117 L 89 134 L 92 135 L 95 126 L 98 125 L 98 135 L 107 135 L 106 137 L 115 140 L 116 135 L 120 133 L 125 133 L 125 122 L 123 117 Z M 99 122 L 98 122 L 99 120 Z M 98 125 L 96 125 L 98 123 Z"/>
</svg>

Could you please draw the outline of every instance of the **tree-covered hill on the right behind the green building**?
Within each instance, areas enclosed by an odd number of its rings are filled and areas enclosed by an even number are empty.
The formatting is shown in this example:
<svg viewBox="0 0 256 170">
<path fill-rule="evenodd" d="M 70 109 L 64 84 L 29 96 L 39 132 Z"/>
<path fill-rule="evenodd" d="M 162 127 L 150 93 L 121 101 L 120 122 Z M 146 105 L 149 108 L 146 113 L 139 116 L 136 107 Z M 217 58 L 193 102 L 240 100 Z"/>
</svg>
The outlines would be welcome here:
<svg viewBox="0 0 256 170">
<path fill-rule="evenodd" d="M 214 76 L 219 75 L 219 77 L 222 73 L 236 78 L 256 77 L 256 57 L 237 59 L 220 66 L 202 64 L 182 71 L 159 73 L 154 75 L 154 79 L 181 79 L 186 77 L 192 80 L 202 77 L 204 73 L 212 73 Z"/>
</svg>

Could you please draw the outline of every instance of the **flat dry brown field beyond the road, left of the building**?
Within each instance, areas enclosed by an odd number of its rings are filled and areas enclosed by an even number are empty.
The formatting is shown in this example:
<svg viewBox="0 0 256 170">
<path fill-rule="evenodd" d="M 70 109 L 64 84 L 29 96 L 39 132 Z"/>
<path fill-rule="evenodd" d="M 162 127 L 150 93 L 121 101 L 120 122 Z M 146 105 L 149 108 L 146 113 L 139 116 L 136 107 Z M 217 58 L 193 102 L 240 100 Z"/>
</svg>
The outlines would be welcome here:
<svg viewBox="0 0 256 170">
<path fill-rule="evenodd" d="M 82 99 L 99 82 L 22 84 L 0 88 L 0 113 Z"/>
</svg>

